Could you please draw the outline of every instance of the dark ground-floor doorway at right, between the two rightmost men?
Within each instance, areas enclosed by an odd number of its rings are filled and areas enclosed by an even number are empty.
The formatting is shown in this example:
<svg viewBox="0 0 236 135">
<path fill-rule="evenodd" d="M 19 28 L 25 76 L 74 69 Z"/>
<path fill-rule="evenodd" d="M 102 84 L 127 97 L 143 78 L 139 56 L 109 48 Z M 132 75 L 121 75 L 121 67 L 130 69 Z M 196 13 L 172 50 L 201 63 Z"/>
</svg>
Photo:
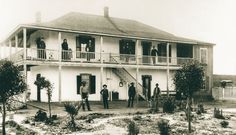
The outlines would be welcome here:
<svg viewBox="0 0 236 135">
<path fill-rule="evenodd" d="M 151 75 L 143 75 L 142 76 L 142 81 L 143 81 L 143 95 L 150 100 L 151 98 L 151 81 L 152 81 L 152 76 Z"/>
</svg>

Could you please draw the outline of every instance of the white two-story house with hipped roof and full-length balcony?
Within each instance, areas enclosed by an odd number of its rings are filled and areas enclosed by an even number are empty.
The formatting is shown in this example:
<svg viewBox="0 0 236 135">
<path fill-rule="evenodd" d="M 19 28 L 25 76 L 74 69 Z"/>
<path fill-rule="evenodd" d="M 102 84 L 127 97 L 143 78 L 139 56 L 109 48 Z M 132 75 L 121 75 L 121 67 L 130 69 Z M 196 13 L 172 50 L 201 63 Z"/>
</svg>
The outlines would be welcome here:
<svg viewBox="0 0 236 135">
<path fill-rule="evenodd" d="M 7 59 L 22 65 L 32 100 L 47 100 L 46 91 L 34 85 L 39 76 L 53 83 L 52 101 L 80 100 L 82 81 L 89 86 L 90 100 L 100 100 L 103 84 L 126 100 L 131 82 L 137 93 L 148 99 L 156 83 L 163 93 L 175 90 L 173 74 L 193 59 L 204 65 L 203 91 L 211 94 L 213 44 L 178 37 L 138 21 L 113 18 L 108 8 L 104 9 L 104 16 L 72 12 L 50 22 L 19 25 L 2 42 L 1 46 L 10 48 Z M 40 37 L 45 49 L 37 47 Z M 62 49 L 64 39 L 68 50 Z M 158 56 L 151 55 L 153 48 Z"/>
</svg>

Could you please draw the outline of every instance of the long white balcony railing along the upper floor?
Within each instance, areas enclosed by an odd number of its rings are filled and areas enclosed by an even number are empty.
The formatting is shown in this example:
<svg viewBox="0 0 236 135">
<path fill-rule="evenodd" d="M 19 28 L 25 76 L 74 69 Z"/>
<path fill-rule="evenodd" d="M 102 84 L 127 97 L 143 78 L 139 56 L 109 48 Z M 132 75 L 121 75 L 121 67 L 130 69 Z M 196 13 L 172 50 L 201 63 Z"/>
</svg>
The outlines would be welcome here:
<svg viewBox="0 0 236 135">
<path fill-rule="evenodd" d="M 109 64 L 129 64 L 129 65 L 167 65 L 167 57 L 162 56 L 146 56 L 146 55 L 127 55 L 115 53 L 97 53 L 97 52 L 81 52 L 72 50 L 62 50 L 59 54 L 58 50 L 53 49 L 34 49 L 27 48 L 26 59 L 35 61 L 59 61 L 61 56 L 62 62 L 88 62 L 88 63 L 109 63 Z M 12 61 L 17 62 L 23 60 L 23 50 L 11 55 Z M 8 58 L 8 59 L 9 59 Z M 169 57 L 169 65 L 182 65 L 193 58 L 176 58 Z"/>
</svg>

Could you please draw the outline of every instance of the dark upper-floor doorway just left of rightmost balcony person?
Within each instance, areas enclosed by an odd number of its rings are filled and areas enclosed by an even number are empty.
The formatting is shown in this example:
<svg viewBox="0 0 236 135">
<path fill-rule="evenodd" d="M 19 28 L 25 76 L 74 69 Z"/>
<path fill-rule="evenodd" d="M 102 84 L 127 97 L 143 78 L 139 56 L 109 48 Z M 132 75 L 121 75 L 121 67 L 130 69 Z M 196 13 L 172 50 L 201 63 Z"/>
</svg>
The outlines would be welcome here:
<svg viewBox="0 0 236 135">
<path fill-rule="evenodd" d="M 150 63 L 150 51 L 151 51 L 151 42 L 142 41 L 142 47 L 143 47 L 143 64 L 149 64 Z"/>
</svg>

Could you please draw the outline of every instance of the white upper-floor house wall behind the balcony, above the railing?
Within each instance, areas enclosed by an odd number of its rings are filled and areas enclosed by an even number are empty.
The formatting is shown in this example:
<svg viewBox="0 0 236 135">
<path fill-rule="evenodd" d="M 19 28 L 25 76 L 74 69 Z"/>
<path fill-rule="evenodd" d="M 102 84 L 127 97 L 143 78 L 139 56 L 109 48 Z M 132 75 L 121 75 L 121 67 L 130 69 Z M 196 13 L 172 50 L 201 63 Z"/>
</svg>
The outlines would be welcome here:
<svg viewBox="0 0 236 135">
<path fill-rule="evenodd" d="M 61 33 L 61 40 L 67 39 L 68 46 L 73 51 L 76 50 L 76 37 L 80 36 L 81 34 L 75 34 L 75 33 Z M 31 48 L 36 48 L 35 40 L 38 37 L 44 37 L 44 41 L 46 43 L 46 49 L 53 49 L 58 50 L 59 45 L 61 43 L 58 43 L 58 32 L 55 31 L 46 31 L 46 30 L 38 30 L 31 34 L 29 39 L 29 45 Z M 101 37 L 100 36 L 94 36 L 95 38 L 95 52 L 100 53 L 100 47 L 101 47 Z M 102 46 L 102 52 L 103 53 L 119 53 L 119 41 L 122 38 L 115 38 L 115 37 L 103 37 L 103 46 Z M 135 41 L 135 40 L 134 40 Z M 137 55 L 142 55 L 142 46 L 141 46 L 141 40 L 138 40 L 136 53 Z M 158 41 L 152 41 L 152 46 L 156 46 L 159 42 Z M 152 48 L 152 47 L 151 47 Z M 176 44 L 171 43 L 171 53 L 172 57 L 176 57 Z M 107 55 L 108 56 L 108 55 Z"/>
</svg>

